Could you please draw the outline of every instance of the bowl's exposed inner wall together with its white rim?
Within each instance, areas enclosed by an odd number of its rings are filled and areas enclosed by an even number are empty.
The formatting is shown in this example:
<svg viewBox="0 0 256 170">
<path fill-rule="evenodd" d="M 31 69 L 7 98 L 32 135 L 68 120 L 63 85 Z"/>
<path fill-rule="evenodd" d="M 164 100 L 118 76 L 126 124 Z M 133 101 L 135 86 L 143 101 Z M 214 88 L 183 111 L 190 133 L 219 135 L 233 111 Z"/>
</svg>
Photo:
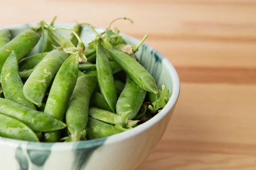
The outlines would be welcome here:
<svg viewBox="0 0 256 170">
<path fill-rule="evenodd" d="M 25 24 L 25 25 L 8 26 L 8 27 L 4 27 L 4 28 L 9 28 L 11 31 L 12 37 L 15 37 L 18 34 L 20 34 L 21 32 L 28 29 L 29 27 L 35 26 L 35 25 L 36 25 L 36 23 L 32 23 L 32 24 Z M 75 26 L 75 24 L 71 24 L 71 23 L 56 23 L 54 25 L 54 27 L 66 27 L 66 28 L 73 28 L 73 26 Z M 103 28 L 96 28 L 96 31 L 98 31 L 99 33 L 103 32 L 104 30 L 105 29 L 103 29 Z M 57 33 L 60 36 L 62 34 L 65 34 L 68 38 L 70 38 L 70 31 L 57 30 Z M 137 45 L 140 42 L 140 40 L 137 40 L 128 35 L 122 34 L 122 36 L 128 44 Z M 93 33 L 93 31 L 91 31 L 91 29 L 88 26 L 84 26 L 81 31 L 80 37 L 81 37 L 81 40 L 83 40 L 84 44 L 87 45 L 87 43 L 91 42 L 95 38 L 95 34 Z M 38 42 L 38 44 L 35 46 L 35 48 L 33 48 L 33 50 L 29 54 L 27 54 L 27 56 L 30 56 L 32 54 L 41 53 L 42 42 L 43 41 L 42 41 L 42 37 L 41 37 L 41 40 Z M 162 85 L 166 85 L 166 88 L 169 89 L 172 96 L 171 96 L 168 104 L 166 105 L 166 107 L 160 113 L 158 113 L 156 116 L 154 116 L 151 120 L 149 120 L 148 122 L 145 122 L 144 124 L 142 124 L 138 127 L 135 127 L 132 130 L 128 130 L 128 131 L 124 132 L 126 134 L 119 133 L 117 135 L 108 137 L 108 139 L 113 139 L 112 141 L 116 141 L 119 139 L 121 140 L 122 137 L 126 138 L 129 136 L 138 134 L 141 131 L 147 129 L 148 127 L 154 125 L 157 121 L 162 119 L 163 116 L 165 116 L 172 109 L 172 107 L 175 105 L 178 95 L 179 95 L 180 84 L 179 84 L 177 72 L 175 71 L 175 68 L 172 66 L 172 64 L 169 62 L 168 59 L 163 57 L 162 54 L 160 54 L 158 51 L 156 51 L 154 48 L 150 47 L 149 45 L 146 45 L 145 43 L 140 47 L 139 51 L 135 55 L 139 59 L 139 62 L 154 77 L 154 79 L 157 82 L 157 86 L 161 89 Z M 119 137 L 117 137 L 117 136 L 119 136 Z M 122 136 L 122 137 L 120 138 L 120 136 Z M 100 145 L 105 140 L 106 139 L 96 139 L 96 140 L 92 140 L 92 141 L 84 141 L 84 142 L 79 142 L 79 143 L 81 144 L 80 147 L 91 147 L 91 146 L 95 146 L 95 145 Z M 111 141 L 111 140 L 109 140 L 109 141 Z M 22 142 L 22 141 L 13 140 L 13 139 L 5 139 L 5 138 L 0 137 L 0 143 L 2 143 L 2 142 L 4 142 L 5 144 L 6 143 L 14 144 L 15 146 L 17 146 L 18 143 L 27 143 L 27 142 Z M 52 146 L 52 144 L 50 144 L 50 143 L 45 143 L 45 144 L 44 143 L 38 144 L 38 143 L 33 143 L 33 142 L 29 142 L 29 143 L 30 143 L 31 147 L 38 147 L 40 145 L 41 147 L 45 146 L 45 147 L 49 148 Z M 66 148 L 70 147 L 69 143 L 58 143 L 58 144 L 62 144 L 62 147 L 61 147 L 61 145 L 58 145 L 58 146 L 60 146 L 60 149 L 63 147 L 66 147 Z M 41 148 L 41 149 L 43 149 L 43 148 Z M 70 147 L 70 149 L 71 149 L 71 147 Z"/>
</svg>

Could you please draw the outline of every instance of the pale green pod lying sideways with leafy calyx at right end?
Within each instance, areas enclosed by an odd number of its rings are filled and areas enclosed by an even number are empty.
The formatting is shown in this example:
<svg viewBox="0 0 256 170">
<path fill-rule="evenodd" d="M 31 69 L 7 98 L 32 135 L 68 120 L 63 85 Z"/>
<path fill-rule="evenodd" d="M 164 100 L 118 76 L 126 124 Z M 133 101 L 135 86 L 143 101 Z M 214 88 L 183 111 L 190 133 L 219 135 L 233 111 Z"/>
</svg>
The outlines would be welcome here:
<svg viewBox="0 0 256 170">
<path fill-rule="evenodd" d="M 125 115 L 125 114 L 123 115 L 124 116 L 120 116 L 120 115 L 117 115 L 116 113 L 112 113 L 112 112 L 105 111 L 99 108 L 94 108 L 94 107 L 91 107 L 89 109 L 90 117 L 108 124 L 116 125 L 116 127 L 120 131 L 131 129 L 131 127 L 137 124 L 138 121 L 128 120 L 127 119 L 128 115 Z"/>
</svg>

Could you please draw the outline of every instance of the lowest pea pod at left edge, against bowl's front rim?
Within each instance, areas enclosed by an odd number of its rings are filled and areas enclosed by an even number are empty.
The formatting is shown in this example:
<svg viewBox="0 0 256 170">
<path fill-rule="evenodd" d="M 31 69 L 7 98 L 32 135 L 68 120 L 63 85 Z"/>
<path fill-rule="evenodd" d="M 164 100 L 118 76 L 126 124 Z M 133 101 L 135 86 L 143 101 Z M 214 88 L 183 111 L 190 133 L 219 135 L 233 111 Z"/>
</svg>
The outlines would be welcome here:
<svg viewBox="0 0 256 170">
<path fill-rule="evenodd" d="M 39 142 L 36 134 L 24 123 L 0 113 L 0 136 L 30 142 Z"/>
</svg>

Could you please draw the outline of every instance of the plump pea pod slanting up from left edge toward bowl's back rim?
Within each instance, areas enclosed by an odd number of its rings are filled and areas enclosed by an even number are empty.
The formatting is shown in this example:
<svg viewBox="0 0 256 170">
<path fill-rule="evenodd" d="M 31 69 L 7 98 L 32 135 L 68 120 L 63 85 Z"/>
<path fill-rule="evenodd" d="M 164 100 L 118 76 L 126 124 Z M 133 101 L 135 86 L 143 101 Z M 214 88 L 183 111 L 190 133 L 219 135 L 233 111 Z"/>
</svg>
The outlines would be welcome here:
<svg viewBox="0 0 256 170">
<path fill-rule="evenodd" d="M 28 30 L 14 37 L 2 48 L 0 48 L 0 70 L 2 69 L 4 62 L 10 55 L 10 52 L 6 51 L 6 49 L 17 52 L 16 57 L 19 61 L 35 47 L 40 37 L 41 28 L 29 28 Z"/>
</svg>

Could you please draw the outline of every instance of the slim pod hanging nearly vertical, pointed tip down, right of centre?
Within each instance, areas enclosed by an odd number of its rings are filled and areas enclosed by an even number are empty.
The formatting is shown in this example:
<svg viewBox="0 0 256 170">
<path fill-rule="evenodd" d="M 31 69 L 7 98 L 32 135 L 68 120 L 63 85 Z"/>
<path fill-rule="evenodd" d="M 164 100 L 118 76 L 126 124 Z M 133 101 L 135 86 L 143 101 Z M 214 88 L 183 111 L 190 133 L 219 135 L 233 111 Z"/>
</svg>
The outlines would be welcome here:
<svg viewBox="0 0 256 170">
<path fill-rule="evenodd" d="M 117 96 L 111 64 L 102 45 L 97 44 L 96 54 L 96 70 L 100 91 L 112 111 L 116 112 Z"/>
</svg>

